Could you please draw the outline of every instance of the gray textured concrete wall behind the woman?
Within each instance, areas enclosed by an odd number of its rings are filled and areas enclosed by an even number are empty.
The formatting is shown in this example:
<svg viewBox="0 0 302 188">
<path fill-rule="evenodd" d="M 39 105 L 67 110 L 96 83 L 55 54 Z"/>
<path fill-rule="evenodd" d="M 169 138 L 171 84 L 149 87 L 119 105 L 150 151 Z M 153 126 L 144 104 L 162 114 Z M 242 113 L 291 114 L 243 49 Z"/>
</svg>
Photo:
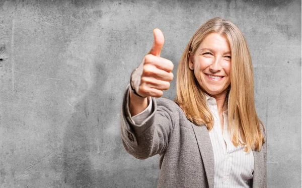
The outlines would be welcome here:
<svg viewBox="0 0 302 188">
<path fill-rule="evenodd" d="M 120 107 L 153 42 L 175 64 L 222 17 L 245 34 L 268 130 L 269 187 L 301 186 L 300 1 L 0 1 L 0 187 L 156 187 L 123 149 Z M 164 96 L 175 97 L 175 79 Z"/>
</svg>

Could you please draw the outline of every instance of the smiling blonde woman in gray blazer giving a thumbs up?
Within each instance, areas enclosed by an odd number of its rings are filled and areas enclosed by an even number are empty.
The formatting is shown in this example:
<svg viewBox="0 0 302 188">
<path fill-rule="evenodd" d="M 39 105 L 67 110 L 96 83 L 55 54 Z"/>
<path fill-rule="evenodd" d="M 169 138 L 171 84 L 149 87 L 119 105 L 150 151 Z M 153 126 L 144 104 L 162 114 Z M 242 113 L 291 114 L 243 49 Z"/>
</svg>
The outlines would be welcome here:
<svg viewBox="0 0 302 188">
<path fill-rule="evenodd" d="M 154 36 L 124 95 L 126 151 L 160 154 L 158 187 L 266 187 L 266 133 L 242 32 L 220 18 L 198 28 L 178 66 L 175 101 L 156 98 L 169 89 L 173 64 L 160 57 L 162 32 Z"/>
</svg>

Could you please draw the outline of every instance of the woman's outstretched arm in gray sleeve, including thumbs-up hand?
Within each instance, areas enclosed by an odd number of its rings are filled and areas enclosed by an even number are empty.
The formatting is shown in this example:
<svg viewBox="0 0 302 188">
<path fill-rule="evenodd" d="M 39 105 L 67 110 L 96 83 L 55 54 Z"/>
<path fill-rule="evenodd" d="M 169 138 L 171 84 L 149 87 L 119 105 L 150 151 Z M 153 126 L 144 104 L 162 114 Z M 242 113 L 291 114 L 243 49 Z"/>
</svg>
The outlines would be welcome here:
<svg viewBox="0 0 302 188">
<path fill-rule="evenodd" d="M 121 113 L 123 145 L 128 153 L 139 159 L 163 153 L 168 146 L 168 137 L 174 124 L 171 110 L 166 109 L 165 105 L 157 107 L 154 98 L 161 97 L 163 90 L 169 89 L 170 81 L 173 80 L 174 65 L 172 61 L 160 56 L 165 40 L 162 31 L 154 29 L 153 34 L 152 49 L 144 56 L 141 64 L 130 77 L 130 86 L 136 95 L 128 92 L 128 85 Z M 137 124 L 131 116 L 147 108 L 147 97 L 152 97 L 152 111 L 141 123 Z"/>
</svg>

